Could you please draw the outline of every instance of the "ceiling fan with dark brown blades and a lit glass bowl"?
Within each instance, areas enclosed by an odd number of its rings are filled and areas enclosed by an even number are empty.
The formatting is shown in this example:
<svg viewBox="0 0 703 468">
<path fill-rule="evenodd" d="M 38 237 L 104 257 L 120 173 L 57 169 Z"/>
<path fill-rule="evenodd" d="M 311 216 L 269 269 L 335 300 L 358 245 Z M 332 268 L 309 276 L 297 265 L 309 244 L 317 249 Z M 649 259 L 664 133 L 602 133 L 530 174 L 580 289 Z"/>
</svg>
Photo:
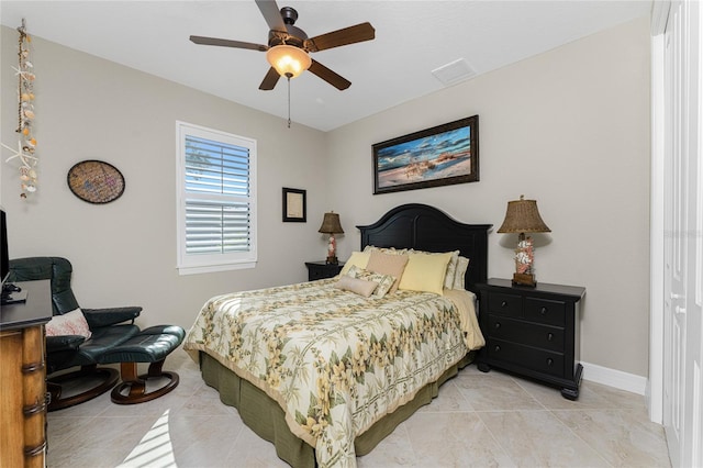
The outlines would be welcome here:
<svg viewBox="0 0 703 468">
<path fill-rule="evenodd" d="M 274 89 L 281 76 L 290 79 L 305 69 L 338 90 L 347 89 L 352 85 L 349 80 L 311 58 L 309 54 L 357 42 L 371 41 L 376 37 L 376 30 L 370 23 L 360 23 L 315 37 L 308 37 L 303 30 L 294 25 L 298 20 L 298 12 L 293 8 L 283 7 L 279 10 L 275 0 L 256 0 L 256 4 L 270 29 L 268 45 L 202 36 L 190 36 L 190 41 L 201 45 L 266 52 L 266 58 L 271 64 L 271 68 L 269 68 L 261 85 L 259 85 L 259 89 L 265 91 Z"/>
</svg>

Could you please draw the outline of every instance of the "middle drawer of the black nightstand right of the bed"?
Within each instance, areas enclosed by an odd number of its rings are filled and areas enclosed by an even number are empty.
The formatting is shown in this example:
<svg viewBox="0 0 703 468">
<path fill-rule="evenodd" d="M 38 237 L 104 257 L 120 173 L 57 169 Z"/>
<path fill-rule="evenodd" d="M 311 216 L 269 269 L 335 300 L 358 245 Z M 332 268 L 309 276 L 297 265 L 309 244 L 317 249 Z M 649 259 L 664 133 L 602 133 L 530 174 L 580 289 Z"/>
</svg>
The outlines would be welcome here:
<svg viewBox="0 0 703 468">
<path fill-rule="evenodd" d="M 499 315 L 489 316 L 488 322 L 487 333 L 491 337 L 563 352 L 563 328 L 515 321 Z"/>
</svg>

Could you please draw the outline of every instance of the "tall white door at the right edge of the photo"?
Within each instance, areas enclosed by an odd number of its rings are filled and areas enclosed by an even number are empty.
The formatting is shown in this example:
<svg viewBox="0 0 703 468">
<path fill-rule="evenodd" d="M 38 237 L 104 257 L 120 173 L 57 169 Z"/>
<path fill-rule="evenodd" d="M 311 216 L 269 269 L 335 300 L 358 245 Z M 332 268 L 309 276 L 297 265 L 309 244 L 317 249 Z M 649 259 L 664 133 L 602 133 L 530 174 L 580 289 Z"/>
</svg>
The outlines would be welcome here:
<svg viewBox="0 0 703 468">
<path fill-rule="evenodd" d="M 665 37 L 663 423 L 674 467 L 703 466 L 703 10 L 671 3 Z"/>
</svg>

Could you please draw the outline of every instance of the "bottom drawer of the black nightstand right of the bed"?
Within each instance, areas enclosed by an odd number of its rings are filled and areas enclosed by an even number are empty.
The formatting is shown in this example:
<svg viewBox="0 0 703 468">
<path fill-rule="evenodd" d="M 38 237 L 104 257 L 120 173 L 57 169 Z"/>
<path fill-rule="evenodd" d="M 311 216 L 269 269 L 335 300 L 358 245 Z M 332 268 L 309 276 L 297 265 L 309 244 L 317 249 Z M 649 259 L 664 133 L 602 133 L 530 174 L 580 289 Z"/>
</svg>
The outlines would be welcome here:
<svg viewBox="0 0 703 468">
<path fill-rule="evenodd" d="M 521 368 L 555 377 L 565 377 L 563 355 L 561 353 L 548 352 L 495 338 L 488 339 L 487 352 L 490 359 L 511 363 Z"/>
</svg>

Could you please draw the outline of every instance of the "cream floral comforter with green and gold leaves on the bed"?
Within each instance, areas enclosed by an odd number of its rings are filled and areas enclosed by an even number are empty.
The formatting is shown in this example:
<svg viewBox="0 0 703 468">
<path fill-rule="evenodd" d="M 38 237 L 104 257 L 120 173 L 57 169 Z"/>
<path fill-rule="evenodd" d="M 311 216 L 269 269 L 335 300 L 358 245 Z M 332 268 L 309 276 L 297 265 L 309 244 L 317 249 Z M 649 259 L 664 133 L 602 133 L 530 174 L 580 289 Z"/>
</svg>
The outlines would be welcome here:
<svg viewBox="0 0 703 468">
<path fill-rule="evenodd" d="M 321 467 L 356 466 L 354 438 L 484 344 L 470 292 L 364 298 L 334 279 L 210 299 L 185 349 L 264 390 Z"/>
</svg>

